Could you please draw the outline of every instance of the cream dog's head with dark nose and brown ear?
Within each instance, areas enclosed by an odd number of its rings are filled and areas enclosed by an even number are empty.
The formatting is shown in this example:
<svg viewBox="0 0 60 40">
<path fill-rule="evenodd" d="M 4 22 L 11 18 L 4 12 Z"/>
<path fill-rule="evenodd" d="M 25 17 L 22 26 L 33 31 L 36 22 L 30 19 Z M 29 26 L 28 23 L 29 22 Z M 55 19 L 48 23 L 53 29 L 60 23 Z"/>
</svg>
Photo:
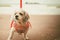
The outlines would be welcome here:
<svg viewBox="0 0 60 40">
<path fill-rule="evenodd" d="M 17 11 L 14 14 L 14 19 L 17 20 L 17 21 L 19 21 L 19 22 L 20 21 L 26 22 L 29 19 L 29 15 L 27 14 L 26 11 L 23 11 L 23 10 Z"/>
</svg>

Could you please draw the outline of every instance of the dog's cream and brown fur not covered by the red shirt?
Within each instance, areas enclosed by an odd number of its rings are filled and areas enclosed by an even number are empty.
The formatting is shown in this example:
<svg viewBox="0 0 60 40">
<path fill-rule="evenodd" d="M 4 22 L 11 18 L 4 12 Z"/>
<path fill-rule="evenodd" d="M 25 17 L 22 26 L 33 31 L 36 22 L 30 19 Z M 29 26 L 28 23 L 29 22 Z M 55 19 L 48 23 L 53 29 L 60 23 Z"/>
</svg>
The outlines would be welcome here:
<svg viewBox="0 0 60 40">
<path fill-rule="evenodd" d="M 26 22 L 28 22 L 28 19 L 29 19 L 29 15 L 23 10 L 17 11 L 17 12 L 14 13 L 12 20 L 14 20 L 14 22 L 17 25 L 22 25 L 24 30 L 23 31 L 22 30 L 18 31 L 18 30 L 15 29 L 14 25 L 12 25 L 12 27 L 10 29 L 10 34 L 9 34 L 8 40 L 12 40 L 14 32 L 17 32 L 19 34 L 23 33 L 24 34 L 24 40 L 29 39 L 27 37 L 27 32 L 28 32 L 29 27 L 25 28 Z"/>
</svg>

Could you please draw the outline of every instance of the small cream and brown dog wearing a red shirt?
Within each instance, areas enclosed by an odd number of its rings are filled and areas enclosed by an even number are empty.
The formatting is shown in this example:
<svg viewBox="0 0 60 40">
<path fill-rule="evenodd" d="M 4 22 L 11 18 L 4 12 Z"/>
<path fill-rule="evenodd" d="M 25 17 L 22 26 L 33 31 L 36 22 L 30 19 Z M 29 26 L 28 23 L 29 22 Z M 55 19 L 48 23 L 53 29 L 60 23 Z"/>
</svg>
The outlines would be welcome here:
<svg viewBox="0 0 60 40">
<path fill-rule="evenodd" d="M 8 40 L 12 40 L 14 32 L 24 35 L 24 40 L 28 40 L 27 32 L 31 26 L 29 22 L 29 15 L 26 11 L 20 10 L 14 13 L 11 24 L 10 34 Z"/>
</svg>

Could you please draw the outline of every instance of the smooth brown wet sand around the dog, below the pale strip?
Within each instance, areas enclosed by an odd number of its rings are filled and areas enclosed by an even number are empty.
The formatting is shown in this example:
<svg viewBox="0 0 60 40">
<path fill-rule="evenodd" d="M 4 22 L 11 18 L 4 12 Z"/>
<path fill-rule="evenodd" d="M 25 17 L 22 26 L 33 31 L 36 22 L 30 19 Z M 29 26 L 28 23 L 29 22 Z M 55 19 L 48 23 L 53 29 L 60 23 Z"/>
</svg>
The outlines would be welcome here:
<svg viewBox="0 0 60 40">
<path fill-rule="evenodd" d="M 10 15 L 0 15 L 0 40 L 7 40 Z M 30 40 L 60 40 L 60 15 L 31 15 Z M 23 40 L 15 33 L 13 40 Z"/>
</svg>

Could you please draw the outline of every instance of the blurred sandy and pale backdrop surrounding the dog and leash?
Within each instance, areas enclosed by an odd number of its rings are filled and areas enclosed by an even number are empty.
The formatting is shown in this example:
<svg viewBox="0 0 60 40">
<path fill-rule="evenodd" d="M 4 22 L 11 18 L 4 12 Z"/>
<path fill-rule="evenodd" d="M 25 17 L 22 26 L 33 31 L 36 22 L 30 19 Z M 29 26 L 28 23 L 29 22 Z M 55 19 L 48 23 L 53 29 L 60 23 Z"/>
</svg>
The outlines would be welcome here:
<svg viewBox="0 0 60 40">
<path fill-rule="evenodd" d="M 30 15 L 30 40 L 60 40 L 60 0 L 22 0 L 22 9 Z M 9 21 L 20 10 L 20 0 L 0 0 L 0 40 L 7 40 Z M 23 40 L 14 34 L 13 40 Z"/>
</svg>

